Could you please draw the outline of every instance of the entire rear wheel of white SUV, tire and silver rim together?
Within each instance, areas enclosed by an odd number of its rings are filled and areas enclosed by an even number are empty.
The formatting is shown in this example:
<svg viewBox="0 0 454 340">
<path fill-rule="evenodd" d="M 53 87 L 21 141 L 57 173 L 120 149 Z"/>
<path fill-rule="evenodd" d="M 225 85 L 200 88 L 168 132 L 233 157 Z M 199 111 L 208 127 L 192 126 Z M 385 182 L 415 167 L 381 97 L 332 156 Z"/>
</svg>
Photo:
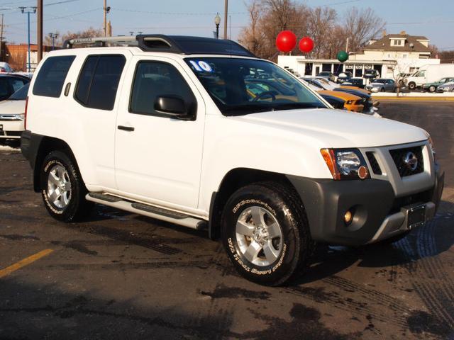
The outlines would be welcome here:
<svg viewBox="0 0 454 340">
<path fill-rule="evenodd" d="M 40 184 L 45 208 L 56 220 L 74 222 L 90 212 L 93 204 L 85 200 L 87 188 L 65 152 L 52 151 L 45 157 Z"/>
</svg>

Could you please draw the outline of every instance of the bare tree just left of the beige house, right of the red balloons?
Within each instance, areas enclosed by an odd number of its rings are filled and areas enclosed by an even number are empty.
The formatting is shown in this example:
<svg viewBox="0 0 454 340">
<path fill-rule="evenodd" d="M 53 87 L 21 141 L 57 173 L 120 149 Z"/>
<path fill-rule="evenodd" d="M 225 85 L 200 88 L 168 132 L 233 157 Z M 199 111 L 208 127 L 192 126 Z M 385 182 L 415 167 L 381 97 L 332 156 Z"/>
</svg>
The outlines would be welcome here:
<svg viewBox="0 0 454 340">
<path fill-rule="evenodd" d="M 345 35 L 350 39 L 349 50 L 361 50 L 383 30 L 384 25 L 382 18 L 378 17 L 372 8 L 350 8 L 345 16 Z"/>
</svg>

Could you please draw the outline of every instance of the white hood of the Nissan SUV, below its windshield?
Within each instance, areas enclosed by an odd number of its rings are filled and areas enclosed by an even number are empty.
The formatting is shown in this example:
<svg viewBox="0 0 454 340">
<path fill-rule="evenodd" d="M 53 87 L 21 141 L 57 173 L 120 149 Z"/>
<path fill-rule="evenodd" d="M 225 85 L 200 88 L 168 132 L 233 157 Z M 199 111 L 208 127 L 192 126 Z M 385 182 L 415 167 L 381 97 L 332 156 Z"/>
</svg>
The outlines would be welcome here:
<svg viewBox="0 0 454 340">
<path fill-rule="evenodd" d="M 427 132 L 413 125 L 328 108 L 270 111 L 234 119 L 287 130 L 321 148 L 380 147 L 427 140 Z"/>
</svg>

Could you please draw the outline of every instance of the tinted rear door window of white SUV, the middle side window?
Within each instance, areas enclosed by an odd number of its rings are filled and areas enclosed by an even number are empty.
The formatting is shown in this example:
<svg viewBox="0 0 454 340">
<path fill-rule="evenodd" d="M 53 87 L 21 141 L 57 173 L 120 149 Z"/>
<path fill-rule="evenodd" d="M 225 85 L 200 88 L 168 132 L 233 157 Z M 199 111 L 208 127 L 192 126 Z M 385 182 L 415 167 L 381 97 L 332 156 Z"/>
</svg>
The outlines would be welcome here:
<svg viewBox="0 0 454 340">
<path fill-rule="evenodd" d="M 79 75 L 74 97 L 83 106 L 112 110 L 125 66 L 123 55 L 90 55 Z"/>
</svg>

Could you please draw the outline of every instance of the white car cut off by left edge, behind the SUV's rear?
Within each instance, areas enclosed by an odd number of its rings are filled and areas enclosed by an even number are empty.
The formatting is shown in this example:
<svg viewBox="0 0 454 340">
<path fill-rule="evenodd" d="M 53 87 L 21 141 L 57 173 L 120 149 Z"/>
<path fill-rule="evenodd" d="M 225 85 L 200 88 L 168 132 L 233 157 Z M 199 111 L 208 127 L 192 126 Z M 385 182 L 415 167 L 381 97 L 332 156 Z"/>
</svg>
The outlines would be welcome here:
<svg viewBox="0 0 454 340">
<path fill-rule="evenodd" d="M 26 112 L 28 85 L 22 86 L 6 101 L 0 102 L 0 140 L 18 140 L 21 138 L 24 130 L 23 121 Z"/>
</svg>

